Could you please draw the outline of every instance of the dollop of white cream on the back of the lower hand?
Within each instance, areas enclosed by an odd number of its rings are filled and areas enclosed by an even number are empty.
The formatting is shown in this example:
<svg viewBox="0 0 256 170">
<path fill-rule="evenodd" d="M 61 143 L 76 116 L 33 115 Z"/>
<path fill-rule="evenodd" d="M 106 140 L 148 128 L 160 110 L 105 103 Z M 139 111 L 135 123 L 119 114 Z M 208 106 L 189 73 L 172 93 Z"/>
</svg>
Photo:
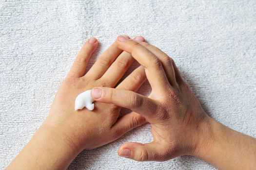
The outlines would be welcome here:
<svg viewBox="0 0 256 170">
<path fill-rule="evenodd" d="M 91 90 L 80 93 L 75 100 L 75 110 L 86 107 L 88 110 L 94 109 L 94 100 L 91 96 Z"/>
</svg>

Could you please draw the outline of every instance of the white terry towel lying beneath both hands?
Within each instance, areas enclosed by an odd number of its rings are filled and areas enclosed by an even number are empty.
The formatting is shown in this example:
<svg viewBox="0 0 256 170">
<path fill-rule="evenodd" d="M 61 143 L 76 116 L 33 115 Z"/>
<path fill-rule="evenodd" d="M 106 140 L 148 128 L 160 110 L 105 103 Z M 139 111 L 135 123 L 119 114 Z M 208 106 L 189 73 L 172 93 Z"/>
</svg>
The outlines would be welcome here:
<svg viewBox="0 0 256 170">
<path fill-rule="evenodd" d="M 118 34 L 142 35 L 165 51 L 209 115 L 256 137 L 256 0 L 1 0 L 0 169 L 47 117 L 82 43 L 97 37 L 100 54 Z M 144 125 L 80 153 L 69 169 L 215 169 L 191 156 L 136 162 L 117 155 L 122 143 L 151 140 Z"/>
</svg>

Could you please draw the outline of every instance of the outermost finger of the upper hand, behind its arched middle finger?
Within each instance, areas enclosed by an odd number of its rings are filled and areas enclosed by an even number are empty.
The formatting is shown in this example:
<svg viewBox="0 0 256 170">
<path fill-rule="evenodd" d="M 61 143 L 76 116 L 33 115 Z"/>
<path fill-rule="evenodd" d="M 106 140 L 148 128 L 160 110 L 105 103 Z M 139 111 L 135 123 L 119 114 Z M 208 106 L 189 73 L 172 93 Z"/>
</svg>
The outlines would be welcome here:
<svg viewBox="0 0 256 170">
<path fill-rule="evenodd" d="M 155 54 L 159 58 L 170 84 L 178 88 L 176 77 L 175 77 L 176 72 L 173 68 L 173 62 L 172 62 L 173 60 L 166 53 L 164 53 L 163 51 L 161 51 L 160 49 L 158 49 L 157 47 L 151 44 L 148 44 L 146 42 L 138 42 L 138 43 L 141 44 L 143 47 L 147 48 L 149 51 L 151 51 L 153 54 Z"/>
</svg>

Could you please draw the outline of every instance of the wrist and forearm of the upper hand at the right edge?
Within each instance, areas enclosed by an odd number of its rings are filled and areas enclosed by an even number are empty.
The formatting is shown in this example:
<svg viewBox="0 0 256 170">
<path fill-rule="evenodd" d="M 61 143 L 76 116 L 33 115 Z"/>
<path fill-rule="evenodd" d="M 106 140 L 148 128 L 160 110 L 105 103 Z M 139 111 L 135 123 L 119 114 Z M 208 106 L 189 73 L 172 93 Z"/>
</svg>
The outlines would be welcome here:
<svg viewBox="0 0 256 170">
<path fill-rule="evenodd" d="M 218 169 L 253 169 L 255 165 L 256 139 L 241 134 L 210 118 L 198 138 L 191 154 L 214 165 Z M 239 160 L 239 161 L 237 161 Z"/>
</svg>

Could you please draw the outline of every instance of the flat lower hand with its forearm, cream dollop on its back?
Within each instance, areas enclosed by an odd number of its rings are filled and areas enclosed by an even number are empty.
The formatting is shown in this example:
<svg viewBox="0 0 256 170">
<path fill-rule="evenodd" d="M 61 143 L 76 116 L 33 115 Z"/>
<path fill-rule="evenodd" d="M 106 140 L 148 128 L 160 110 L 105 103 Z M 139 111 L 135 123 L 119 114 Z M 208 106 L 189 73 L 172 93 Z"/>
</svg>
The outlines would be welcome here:
<svg viewBox="0 0 256 170">
<path fill-rule="evenodd" d="M 141 36 L 136 39 L 144 41 Z M 95 86 L 136 91 L 146 79 L 144 68 L 140 66 L 117 85 L 134 61 L 130 53 L 117 47 L 117 42 L 84 74 L 97 46 L 96 38 L 89 39 L 83 45 L 59 87 L 49 116 L 7 170 L 67 169 L 82 150 L 105 145 L 146 123 L 145 118 L 135 112 L 118 118 L 120 107 L 114 104 L 94 102 L 93 111 L 85 108 L 74 110 L 74 101 L 81 92 Z"/>
</svg>

